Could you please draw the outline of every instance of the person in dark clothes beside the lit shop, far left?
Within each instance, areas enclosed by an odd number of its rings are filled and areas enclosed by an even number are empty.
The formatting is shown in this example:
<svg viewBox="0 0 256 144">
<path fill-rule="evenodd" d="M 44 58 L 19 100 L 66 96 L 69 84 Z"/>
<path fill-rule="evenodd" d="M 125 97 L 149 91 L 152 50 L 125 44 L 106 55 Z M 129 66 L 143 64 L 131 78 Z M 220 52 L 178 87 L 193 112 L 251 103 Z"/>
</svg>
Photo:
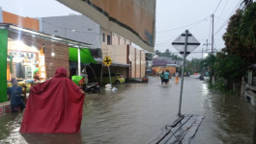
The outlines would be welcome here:
<svg viewBox="0 0 256 144">
<path fill-rule="evenodd" d="M 11 108 L 13 112 L 17 112 L 18 109 L 23 110 L 25 108 L 25 104 L 22 100 L 21 93 L 22 87 L 17 85 L 16 79 L 12 79 L 13 86 L 8 88 L 7 93 L 11 100 Z"/>
</svg>

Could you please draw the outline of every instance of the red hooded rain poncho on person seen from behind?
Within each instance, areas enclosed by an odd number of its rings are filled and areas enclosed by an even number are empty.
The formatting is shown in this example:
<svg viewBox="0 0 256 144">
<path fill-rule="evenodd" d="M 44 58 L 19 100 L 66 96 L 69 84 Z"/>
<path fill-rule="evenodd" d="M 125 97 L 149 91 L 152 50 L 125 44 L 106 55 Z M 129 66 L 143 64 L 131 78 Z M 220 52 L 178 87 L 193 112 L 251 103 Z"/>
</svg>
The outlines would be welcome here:
<svg viewBox="0 0 256 144">
<path fill-rule="evenodd" d="M 58 68 L 53 79 L 31 87 L 20 132 L 80 132 L 83 101 L 67 70 Z"/>
</svg>

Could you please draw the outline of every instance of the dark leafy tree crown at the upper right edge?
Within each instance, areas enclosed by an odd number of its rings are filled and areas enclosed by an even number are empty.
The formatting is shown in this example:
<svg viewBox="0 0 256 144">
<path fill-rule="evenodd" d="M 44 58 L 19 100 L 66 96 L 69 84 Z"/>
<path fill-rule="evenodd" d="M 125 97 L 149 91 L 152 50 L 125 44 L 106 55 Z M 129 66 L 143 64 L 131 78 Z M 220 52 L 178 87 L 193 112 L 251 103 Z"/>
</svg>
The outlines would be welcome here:
<svg viewBox="0 0 256 144">
<path fill-rule="evenodd" d="M 230 17 L 228 28 L 223 36 L 225 48 L 222 52 L 228 55 L 236 55 L 247 65 L 255 63 L 256 44 L 255 44 L 255 20 L 256 4 L 253 3 L 247 7 L 244 12 L 238 10 Z M 254 7 L 252 7 L 254 6 Z"/>
</svg>

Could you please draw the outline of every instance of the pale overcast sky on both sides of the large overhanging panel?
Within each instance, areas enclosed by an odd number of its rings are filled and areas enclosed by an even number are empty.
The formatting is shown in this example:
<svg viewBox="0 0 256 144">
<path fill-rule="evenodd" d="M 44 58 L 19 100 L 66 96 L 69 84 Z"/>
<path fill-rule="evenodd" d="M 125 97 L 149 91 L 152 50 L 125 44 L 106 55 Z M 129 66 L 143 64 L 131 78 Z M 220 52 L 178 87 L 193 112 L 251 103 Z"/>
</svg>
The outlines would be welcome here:
<svg viewBox="0 0 256 144">
<path fill-rule="evenodd" d="M 203 45 L 206 39 L 212 43 L 211 14 L 214 12 L 214 48 L 220 51 L 224 47 L 222 35 L 229 17 L 236 12 L 241 2 L 242 0 L 156 0 L 155 50 L 164 52 L 169 49 L 177 53 L 171 42 L 187 29 L 201 43 L 188 59 L 202 58 L 202 49 L 206 51 L 206 46 Z M 78 14 L 55 0 L 0 0 L 0 7 L 3 11 L 29 17 Z"/>
</svg>

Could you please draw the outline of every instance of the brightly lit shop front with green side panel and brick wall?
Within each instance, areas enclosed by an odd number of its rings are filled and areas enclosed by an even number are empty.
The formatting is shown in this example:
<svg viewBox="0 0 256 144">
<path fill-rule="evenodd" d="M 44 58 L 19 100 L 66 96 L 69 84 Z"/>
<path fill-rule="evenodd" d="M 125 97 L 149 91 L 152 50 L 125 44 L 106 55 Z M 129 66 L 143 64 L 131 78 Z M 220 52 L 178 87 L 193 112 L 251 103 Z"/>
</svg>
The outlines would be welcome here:
<svg viewBox="0 0 256 144">
<path fill-rule="evenodd" d="M 31 85 L 53 78 L 58 67 L 65 67 L 70 75 L 70 46 L 90 47 L 90 44 L 11 24 L 0 24 L 0 31 L 0 102 L 8 101 L 7 88 L 12 86 L 12 78 L 17 79 L 26 96 Z"/>
</svg>

